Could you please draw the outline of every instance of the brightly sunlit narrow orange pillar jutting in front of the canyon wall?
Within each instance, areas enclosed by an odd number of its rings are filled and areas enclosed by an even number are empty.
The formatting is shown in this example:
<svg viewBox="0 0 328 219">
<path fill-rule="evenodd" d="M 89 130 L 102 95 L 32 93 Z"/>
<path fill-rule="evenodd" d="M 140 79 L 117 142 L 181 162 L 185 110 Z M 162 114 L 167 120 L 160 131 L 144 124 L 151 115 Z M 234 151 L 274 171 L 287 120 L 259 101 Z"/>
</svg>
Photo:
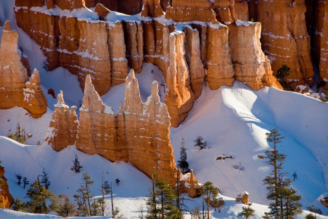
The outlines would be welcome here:
<svg viewBox="0 0 328 219">
<path fill-rule="evenodd" d="M 185 59 L 184 33 L 170 34 L 170 66 L 166 76 L 165 104 L 171 116 L 171 125 L 177 127 L 192 108 L 195 95 L 190 87 L 189 69 Z"/>
</svg>

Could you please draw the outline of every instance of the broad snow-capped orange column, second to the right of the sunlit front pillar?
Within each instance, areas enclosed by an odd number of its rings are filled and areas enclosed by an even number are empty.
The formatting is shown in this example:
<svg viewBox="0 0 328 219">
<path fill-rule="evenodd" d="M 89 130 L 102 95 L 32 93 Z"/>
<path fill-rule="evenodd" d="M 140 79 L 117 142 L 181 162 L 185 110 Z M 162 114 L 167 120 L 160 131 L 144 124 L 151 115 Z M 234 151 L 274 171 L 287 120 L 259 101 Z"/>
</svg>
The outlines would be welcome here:
<svg viewBox="0 0 328 219">
<path fill-rule="evenodd" d="M 207 28 L 207 82 L 212 90 L 223 85 L 232 87 L 235 70 L 232 65 L 228 27 L 210 25 Z"/>
</svg>

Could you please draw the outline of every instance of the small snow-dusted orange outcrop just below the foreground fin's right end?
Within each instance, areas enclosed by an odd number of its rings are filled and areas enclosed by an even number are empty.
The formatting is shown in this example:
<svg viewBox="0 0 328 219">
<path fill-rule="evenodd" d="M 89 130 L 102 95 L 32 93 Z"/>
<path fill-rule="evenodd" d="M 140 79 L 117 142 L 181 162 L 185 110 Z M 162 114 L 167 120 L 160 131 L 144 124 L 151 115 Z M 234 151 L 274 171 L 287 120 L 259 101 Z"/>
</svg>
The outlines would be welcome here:
<svg viewBox="0 0 328 219">
<path fill-rule="evenodd" d="M 202 185 L 197 182 L 192 170 L 181 176 L 180 187 L 179 192 L 187 193 L 189 197 L 196 198 L 202 195 Z"/>
</svg>

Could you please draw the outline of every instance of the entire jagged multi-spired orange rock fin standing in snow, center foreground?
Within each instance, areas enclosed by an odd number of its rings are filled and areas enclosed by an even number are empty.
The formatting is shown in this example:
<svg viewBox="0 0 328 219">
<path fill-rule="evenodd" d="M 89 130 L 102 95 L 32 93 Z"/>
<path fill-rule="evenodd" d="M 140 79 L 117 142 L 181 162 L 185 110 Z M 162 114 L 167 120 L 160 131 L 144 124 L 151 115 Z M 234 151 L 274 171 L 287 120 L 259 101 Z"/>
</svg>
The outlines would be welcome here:
<svg viewBox="0 0 328 219">
<path fill-rule="evenodd" d="M 132 69 L 126 78 L 124 105 L 114 113 L 103 104 L 88 75 L 77 128 L 77 149 L 113 162 L 130 162 L 149 177 L 155 171 L 158 177 L 174 185 L 177 169 L 170 142 L 170 116 L 167 106 L 159 100 L 158 83 L 153 82 L 151 96 L 142 103 Z M 48 143 L 57 151 L 67 147 L 74 142 L 76 125 L 75 108 L 69 110 L 62 93 L 59 94 Z"/>
</svg>

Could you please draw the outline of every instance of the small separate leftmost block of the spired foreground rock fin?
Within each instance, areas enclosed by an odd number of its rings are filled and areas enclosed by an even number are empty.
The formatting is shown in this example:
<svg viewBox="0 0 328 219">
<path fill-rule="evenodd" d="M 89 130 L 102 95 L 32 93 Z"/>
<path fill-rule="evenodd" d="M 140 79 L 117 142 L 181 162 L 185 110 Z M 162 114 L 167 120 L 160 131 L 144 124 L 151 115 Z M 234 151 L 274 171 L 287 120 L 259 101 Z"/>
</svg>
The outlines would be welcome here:
<svg viewBox="0 0 328 219">
<path fill-rule="evenodd" d="M 57 100 L 45 141 L 52 146 L 53 150 L 59 152 L 68 145 L 75 144 L 78 119 L 75 113 L 76 106 L 69 109 L 65 105 L 62 91 L 58 94 Z"/>
</svg>

